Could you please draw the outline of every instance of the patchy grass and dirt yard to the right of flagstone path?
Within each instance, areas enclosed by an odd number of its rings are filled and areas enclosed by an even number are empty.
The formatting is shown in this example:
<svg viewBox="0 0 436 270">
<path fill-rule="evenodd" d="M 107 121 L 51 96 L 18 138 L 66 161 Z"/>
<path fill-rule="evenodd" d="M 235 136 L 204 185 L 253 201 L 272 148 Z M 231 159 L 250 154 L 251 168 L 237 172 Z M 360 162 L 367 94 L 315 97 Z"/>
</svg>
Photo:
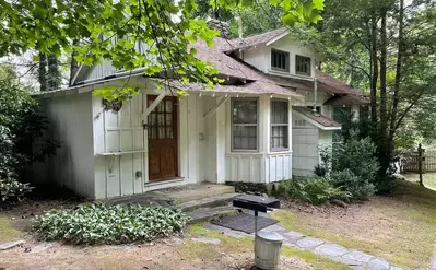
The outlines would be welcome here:
<svg viewBox="0 0 436 270">
<path fill-rule="evenodd" d="M 436 243 L 436 191 L 400 181 L 390 197 L 347 209 L 291 206 L 274 211 L 287 230 L 339 243 L 411 269 L 427 269 Z"/>
</svg>

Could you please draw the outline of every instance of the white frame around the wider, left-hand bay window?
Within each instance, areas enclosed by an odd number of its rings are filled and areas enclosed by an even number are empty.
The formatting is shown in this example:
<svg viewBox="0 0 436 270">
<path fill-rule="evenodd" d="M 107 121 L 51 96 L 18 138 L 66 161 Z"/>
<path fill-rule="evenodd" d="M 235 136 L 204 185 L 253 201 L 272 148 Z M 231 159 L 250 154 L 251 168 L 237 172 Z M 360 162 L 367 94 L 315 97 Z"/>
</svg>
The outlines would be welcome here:
<svg viewBox="0 0 436 270">
<path fill-rule="evenodd" d="M 233 109 L 235 101 L 245 101 L 245 102 L 252 102 L 256 101 L 256 124 L 235 124 L 233 121 Z M 231 152 L 237 153 L 258 153 L 259 152 L 259 98 L 258 97 L 232 97 L 231 98 Z M 235 137 L 234 130 L 235 126 L 238 127 L 252 127 L 256 126 L 256 149 L 235 149 Z"/>
</svg>

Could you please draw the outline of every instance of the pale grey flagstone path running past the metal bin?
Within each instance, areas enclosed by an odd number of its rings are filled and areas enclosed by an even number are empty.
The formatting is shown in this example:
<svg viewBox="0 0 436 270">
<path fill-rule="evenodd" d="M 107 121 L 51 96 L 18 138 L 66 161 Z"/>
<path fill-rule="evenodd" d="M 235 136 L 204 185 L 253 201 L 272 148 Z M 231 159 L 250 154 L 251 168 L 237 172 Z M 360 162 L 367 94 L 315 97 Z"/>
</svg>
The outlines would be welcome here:
<svg viewBox="0 0 436 270">
<path fill-rule="evenodd" d="M 254 234 L 233 231 L 226 227 L 207 224 L 205 228 L 220 231 L 229 237 L 254 237 Z M 378 258 L 355 249 L 346 248 L 335 243 L 327 242 L 303 235 L 297 232 L 286 232 L 281 225 L 275 224 L 261 231 L 275 232 L 284 237 L 283 245 L 296 249 L 309 250 L 314 254 L 327 257 L 333 261 L 347 265 L 356 270 L 405 270 Z"/>
</svg>

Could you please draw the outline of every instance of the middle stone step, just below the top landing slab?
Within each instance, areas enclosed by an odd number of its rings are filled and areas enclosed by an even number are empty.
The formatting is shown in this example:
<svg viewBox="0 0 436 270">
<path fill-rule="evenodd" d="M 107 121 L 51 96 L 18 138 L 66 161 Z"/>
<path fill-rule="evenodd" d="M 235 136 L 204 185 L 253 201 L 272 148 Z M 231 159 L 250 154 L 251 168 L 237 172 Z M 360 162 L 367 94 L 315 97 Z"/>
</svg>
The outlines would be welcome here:
<svg viewBox="0 0 436 270">
<path fill-rule="evenodd" d="M 239 196 L 240 193 L 222 193 L 222 195 L 215 195 L 198 200 L 190 200 L 187 202 L 178 203 L 174 206 L 175 209 L 180 209 L 184 212 L 192 212 L 196 211 L 197 209 L 202 209 L 202 208 L 214 208 L 214 207 L 221 207 L 221 206 L 226 206 L 232 200 Z"/>
</svg>

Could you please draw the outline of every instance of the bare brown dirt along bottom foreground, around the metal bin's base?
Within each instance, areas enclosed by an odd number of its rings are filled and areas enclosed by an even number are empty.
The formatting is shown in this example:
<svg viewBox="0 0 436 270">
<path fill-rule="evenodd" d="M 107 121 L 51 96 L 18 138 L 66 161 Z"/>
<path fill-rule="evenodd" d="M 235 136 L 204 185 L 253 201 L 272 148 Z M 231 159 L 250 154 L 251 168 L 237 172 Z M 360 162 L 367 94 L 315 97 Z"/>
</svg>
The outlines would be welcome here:
<svg viewBox="0 0 436 270">
<path fill-rule="evenodd" d="M 252 253 L 215 254 L 214 258 L 186 258 L 180 239 L 162 240 L 145 245 L 72 247 L 55 246 L 40 253 L 25 253 L 25 247 L 2 251 L 0 268 L 21 269 L 250 269 Z M 5 259 L 3 259 L 5 258 Z M 280 269 L 311 269 L 310 265 L 294 257 L 282 257 Z"/>
</svg>

